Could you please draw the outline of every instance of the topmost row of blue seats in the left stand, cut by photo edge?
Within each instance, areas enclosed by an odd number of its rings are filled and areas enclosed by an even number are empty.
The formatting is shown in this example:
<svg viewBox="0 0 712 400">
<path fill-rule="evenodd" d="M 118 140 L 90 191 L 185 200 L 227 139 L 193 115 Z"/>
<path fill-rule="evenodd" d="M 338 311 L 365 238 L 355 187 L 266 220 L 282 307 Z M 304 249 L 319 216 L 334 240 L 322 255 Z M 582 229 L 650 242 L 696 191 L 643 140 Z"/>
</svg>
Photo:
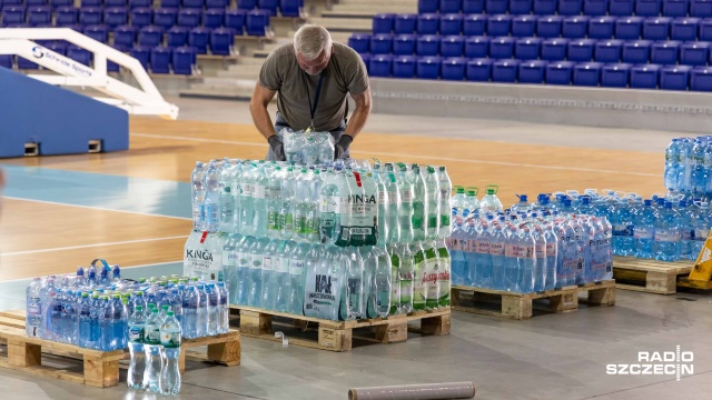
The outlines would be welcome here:
<svg viewBox="0 0 712 400">
<path fill-rule="evenodd" d="M 230 0 L 160 0 L 161 8 L 189 8 L 189 9 L 212 9 L 228 8 Z M 128 7 L 151 8 L 154 0 L 81 0 L 81 7 Z M 75 0 L 0 0 L 0 9 L 4 7 L 33 7 L 47 6 L 52 9 L 59 7 L 73 7 Z M 304 7 L 304 0 L 238 0 L 237 9 L 253 11 L 255 9 L 269 11 L 271 16 L 277 16 L 277 11 L 283 17 L 299 17 L 299 10 Z"/>
</svg>

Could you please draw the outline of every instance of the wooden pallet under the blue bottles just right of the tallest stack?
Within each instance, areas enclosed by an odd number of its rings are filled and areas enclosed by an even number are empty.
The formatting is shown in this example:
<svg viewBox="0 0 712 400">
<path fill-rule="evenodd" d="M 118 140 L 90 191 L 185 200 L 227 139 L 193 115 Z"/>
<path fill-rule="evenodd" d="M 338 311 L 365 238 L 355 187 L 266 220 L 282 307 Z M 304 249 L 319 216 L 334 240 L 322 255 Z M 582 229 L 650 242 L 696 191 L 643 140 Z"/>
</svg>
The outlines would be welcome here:
<svg viewBox="0 0 712 400">
<path fill-rule="evenodd" d="M 514 293 L 453 286 L 451 301 L 453 310 L 456 311 L 526 320 L 532 318 L 535 308 L 548 312 L 576 311 L 581 293 L 587 294 L 587 299 L 584 301 L 589 306 L 613 306 L 615 304 L 615 286 L 614 280 L 606 280 L 537 293 Z"/>
</svg>

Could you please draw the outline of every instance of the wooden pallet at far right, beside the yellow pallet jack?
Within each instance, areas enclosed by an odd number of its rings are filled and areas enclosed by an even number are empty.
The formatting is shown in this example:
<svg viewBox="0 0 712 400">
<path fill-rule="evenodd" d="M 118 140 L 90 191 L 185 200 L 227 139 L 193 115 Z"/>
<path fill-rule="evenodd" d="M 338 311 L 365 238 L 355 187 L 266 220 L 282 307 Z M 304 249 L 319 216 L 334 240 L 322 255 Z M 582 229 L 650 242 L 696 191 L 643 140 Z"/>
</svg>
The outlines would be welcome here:
<svg viewBox="0 0 712 400">
<path fill-rule="evenodd" d="M 624 290 L 644 291 L 659 294 L 678 292 L 678 278 L 686 277 L 694 268 L 694 261 L 657 261 L 634 257 L 613 257 L 613 278 Z"/>
</svg>

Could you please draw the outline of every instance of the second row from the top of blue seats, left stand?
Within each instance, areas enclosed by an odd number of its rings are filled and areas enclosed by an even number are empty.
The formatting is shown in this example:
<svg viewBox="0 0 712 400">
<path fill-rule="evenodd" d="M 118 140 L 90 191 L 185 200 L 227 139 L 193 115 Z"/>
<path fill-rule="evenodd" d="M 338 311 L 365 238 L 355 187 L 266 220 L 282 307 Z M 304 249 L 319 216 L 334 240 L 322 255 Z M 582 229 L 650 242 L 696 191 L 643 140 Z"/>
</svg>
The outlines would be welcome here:
<svg viewBox="0 0 712 400">
<path fill-rule="evenodd" d="M 0 27 L 10 27 L 27 23 L 30 27 L 75 27 L 106 24 L 116 28 L 129 23 L 129 13 L 123 8 L 107 9 L 103 18 L 100 9 L 62 7 L 57 9 L 52 23 L 52 16 L 48 8 L 33 7 L 27 17 L 23 10 L 6 8 L 1 12 Z M 249 36 L 265 36 L 269 27 L 269 14 L 265 11 L 208 9 L 134 9 L 130 14 L 130 24 L 135 28 L 157 26 L 164 29 L 172 27 L 184 28 L 230 28 L 236 34 L 243 34 L 247 30 Z"/>
</svg>

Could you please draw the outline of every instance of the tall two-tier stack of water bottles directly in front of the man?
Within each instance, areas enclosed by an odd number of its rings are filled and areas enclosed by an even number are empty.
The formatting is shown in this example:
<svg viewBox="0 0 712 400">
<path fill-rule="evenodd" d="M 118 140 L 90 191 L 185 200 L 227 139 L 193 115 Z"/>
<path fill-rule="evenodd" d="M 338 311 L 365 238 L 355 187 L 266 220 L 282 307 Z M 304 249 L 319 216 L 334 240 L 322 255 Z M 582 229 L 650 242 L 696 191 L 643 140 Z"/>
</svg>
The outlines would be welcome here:
<svg viewBox="0 0 712 400">
<path fill-rule="evenodd" d="M 192 189 L 184 272 L 224 279 L 233 304 L 346 320 L 449 303 L 444 167 L 224 159 Z"/>
</svg>

